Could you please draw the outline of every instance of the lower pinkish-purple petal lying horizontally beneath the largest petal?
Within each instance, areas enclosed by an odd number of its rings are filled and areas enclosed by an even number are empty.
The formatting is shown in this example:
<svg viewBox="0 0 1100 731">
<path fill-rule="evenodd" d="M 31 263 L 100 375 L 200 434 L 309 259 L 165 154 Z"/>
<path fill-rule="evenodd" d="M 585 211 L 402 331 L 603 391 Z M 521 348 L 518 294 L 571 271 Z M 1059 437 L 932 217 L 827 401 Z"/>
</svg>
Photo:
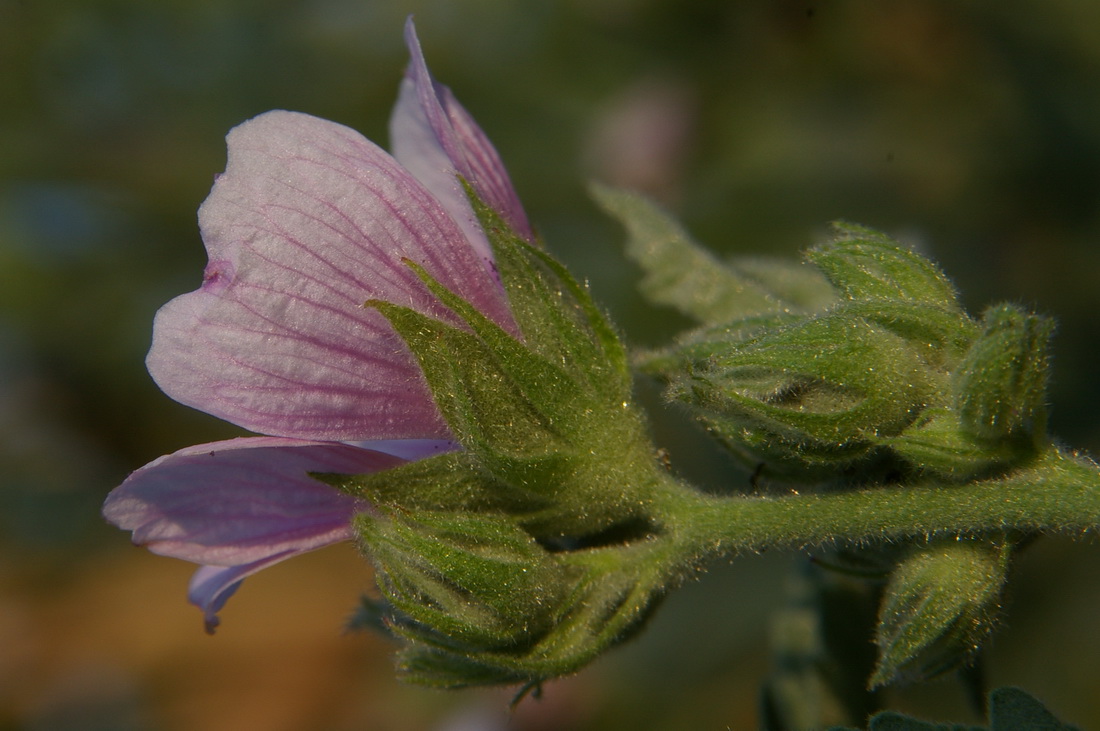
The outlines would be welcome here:
<svg viewBox="0 0 1100 731">
<path fill-rule="evenodd" d="M 103 516 L 153 553 L 241 566 L 352 538 L 366 505 L 309 473 L 366 474 L 403 464 L 348 444 L 278 438 L 190 446 L 134 472 Z"/>
</svg>

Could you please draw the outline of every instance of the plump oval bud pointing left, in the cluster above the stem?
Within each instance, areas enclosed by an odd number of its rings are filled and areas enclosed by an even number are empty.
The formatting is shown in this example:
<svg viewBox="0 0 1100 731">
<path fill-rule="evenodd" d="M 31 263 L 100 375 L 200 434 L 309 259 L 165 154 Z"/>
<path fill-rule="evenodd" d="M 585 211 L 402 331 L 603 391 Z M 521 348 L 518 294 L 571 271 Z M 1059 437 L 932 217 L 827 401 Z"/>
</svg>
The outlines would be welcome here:
<svg viewBox="0 0 1100 731">
<path fill-rule="evenodd" d="M 883 324 L 888 310 L 842 306 L 758 332 L 673 376 L 669 394 L 749 462 L 835 472 L 912 423 L 943 379 L 926 348 Z"/>
</svg>

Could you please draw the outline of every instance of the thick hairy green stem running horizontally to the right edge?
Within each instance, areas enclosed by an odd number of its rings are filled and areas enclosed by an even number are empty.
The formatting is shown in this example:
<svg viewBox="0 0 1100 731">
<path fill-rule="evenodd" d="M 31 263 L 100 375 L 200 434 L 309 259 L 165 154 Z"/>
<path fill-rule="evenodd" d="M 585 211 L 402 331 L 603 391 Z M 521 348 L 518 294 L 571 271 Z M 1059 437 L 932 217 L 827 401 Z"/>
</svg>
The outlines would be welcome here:
<svg viewBox="0 0 1100 731">
<path fill-rule="evenodd" d="M 1008 475 L 963 485 L 917 483 L 748 498 L 662 491 L 676 543 L 700 558 L 768 547 L 890 541 L 987 531 L 1100 529 L 1100 470 L 1049 447 Z"/>
</svg>

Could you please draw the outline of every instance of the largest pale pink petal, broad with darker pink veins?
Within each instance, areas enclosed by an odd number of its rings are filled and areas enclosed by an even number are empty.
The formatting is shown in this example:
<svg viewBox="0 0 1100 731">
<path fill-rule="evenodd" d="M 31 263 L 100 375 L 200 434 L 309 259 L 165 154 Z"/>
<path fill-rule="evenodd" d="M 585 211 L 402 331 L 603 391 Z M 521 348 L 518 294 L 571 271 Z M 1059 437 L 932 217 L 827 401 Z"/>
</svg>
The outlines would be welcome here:
<svg viewBox="0 0 1100 731">
<path fill-rule="evenodd" d="M 199 210 L 204 284 L 157 313 L 150 373 L 265 434 L 447 439 L 416 361 L 369 299 L 454 321 L 403 259 L 505 328 L 506 299 L 451 215 L 358 132 L 275 111 L 232 130 Z"/>
</svg>

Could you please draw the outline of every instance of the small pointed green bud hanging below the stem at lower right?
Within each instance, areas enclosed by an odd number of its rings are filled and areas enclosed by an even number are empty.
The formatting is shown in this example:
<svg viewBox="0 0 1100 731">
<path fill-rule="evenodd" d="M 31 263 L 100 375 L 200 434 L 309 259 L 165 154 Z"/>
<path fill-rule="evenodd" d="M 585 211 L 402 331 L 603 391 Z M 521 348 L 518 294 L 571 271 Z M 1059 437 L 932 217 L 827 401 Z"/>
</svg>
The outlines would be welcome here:
<svg viewBox="0 0 1100 731">
<path fill-rule="evenodd" d="M 924 680 L 965 664 L 993 629 L 1009 549 L 943 541 L 893 571 L 879 612 L 879 662 L 870 687 Z"/>
</svg>

